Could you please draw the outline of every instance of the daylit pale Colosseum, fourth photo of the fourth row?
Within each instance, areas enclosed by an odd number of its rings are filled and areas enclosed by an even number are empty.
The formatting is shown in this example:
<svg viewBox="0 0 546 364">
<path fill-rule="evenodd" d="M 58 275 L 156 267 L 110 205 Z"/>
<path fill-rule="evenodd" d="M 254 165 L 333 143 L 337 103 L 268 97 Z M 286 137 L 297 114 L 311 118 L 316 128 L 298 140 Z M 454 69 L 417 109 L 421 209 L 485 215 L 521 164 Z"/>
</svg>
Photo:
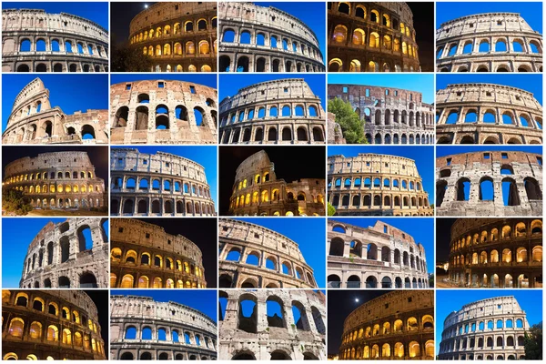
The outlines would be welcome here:
<svg viewBox="0 0 546 364">
<path fill-rule="evenodd" d="M 377 220 L 358 227 L 328 220 L 329 288 L 429 288 L 425 248 Z"/>
</svg>

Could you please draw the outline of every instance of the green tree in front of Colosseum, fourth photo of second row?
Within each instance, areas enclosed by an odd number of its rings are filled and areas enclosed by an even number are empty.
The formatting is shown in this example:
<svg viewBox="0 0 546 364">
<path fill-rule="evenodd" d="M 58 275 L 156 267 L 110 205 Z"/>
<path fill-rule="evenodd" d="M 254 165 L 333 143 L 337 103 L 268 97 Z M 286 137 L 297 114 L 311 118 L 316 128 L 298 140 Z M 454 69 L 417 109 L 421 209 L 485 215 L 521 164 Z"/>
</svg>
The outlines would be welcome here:
<svg viewBox="0 0 546 364">
<path fill-rule="evenodd" d="M 349 101 L 345 102 L 339 97 L 329 100 L 328 111 L 336 116 L 336 123 L 341 126 L 343 137 L 348 144 L 368 143 L 364 137 L 364 121 L 360 120 Z"/>
</svg>

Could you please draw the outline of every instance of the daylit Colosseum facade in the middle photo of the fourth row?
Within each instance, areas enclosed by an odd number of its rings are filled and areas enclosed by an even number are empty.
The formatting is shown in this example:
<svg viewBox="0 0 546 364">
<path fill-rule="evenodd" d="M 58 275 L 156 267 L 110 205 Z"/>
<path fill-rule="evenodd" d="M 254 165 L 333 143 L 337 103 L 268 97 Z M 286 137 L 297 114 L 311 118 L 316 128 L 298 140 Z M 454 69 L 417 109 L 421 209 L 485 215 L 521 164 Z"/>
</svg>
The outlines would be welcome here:
<svg viewBox="0 0 546 364">
<path fill-rule="evenodd" d="M 220 288 L 318 288 L 298 243 L 274 230 L 221 218 L 219 242 Z"/>
</svg>

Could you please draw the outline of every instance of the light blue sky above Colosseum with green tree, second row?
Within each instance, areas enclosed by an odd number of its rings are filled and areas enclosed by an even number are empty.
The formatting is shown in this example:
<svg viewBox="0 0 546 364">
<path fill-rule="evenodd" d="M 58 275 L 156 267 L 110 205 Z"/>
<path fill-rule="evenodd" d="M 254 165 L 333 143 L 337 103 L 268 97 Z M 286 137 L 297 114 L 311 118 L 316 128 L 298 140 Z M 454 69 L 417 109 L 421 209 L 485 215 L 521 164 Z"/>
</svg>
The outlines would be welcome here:
<svg viewBox="0 0 546 364">
<path fill-rule="evenodd" d="M 329 85 L 349 84 L 401 88 L 420 92 L 423 95 L 423 102 L 434 104 L 434 75 L 345 75 L 329 74 Z"/>
</svg>

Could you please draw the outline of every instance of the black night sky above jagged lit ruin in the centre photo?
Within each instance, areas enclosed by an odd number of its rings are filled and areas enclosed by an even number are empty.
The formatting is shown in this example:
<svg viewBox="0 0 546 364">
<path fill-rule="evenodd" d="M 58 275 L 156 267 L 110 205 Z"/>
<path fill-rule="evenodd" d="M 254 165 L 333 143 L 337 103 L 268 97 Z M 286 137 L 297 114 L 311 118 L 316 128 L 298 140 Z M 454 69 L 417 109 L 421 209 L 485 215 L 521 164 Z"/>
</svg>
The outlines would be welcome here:
<svg viewBox="0 0 546 364">
<path fill-rule="evenodd" d="M 326 178 L 325 147 L 220 147 L 220 215 L 227 215 L 238 166 L 260 150 L 268 153 L 269 159 L 275 165 L 277 179 L 290 183 L 301 178 Z"/>
</svg>

